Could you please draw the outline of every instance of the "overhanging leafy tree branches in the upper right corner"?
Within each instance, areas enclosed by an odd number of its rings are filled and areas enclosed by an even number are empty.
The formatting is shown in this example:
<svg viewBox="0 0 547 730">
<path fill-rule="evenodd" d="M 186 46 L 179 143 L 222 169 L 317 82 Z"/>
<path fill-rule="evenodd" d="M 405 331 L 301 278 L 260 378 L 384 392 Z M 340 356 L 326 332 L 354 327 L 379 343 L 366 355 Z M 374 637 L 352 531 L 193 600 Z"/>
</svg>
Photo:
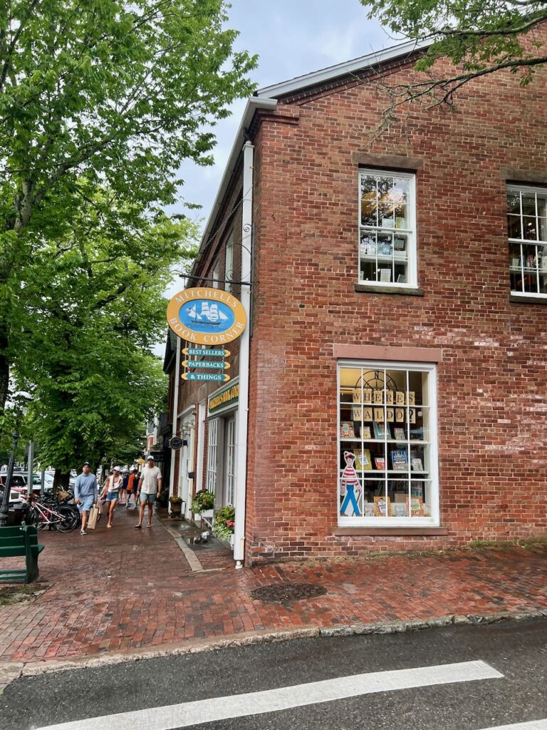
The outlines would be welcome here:
<svg viewBox="0 0 547 730">
<path fill-rule="evenodd" d="M 360 0 L 368 18 L 376 18 L 397 37 L 427 45 L 414 82 L 384 87 L 390 96 L 384 123 L 409 101 L 430 107 L 451 104 L 454 93 L 470 80 L 508 69 L 521 85 L 547 63 L 538 26 L 547 20 L 546 0 Z M 435 61 L 446 57 L 454 72 L 439 76 Z"/>
</svg>

